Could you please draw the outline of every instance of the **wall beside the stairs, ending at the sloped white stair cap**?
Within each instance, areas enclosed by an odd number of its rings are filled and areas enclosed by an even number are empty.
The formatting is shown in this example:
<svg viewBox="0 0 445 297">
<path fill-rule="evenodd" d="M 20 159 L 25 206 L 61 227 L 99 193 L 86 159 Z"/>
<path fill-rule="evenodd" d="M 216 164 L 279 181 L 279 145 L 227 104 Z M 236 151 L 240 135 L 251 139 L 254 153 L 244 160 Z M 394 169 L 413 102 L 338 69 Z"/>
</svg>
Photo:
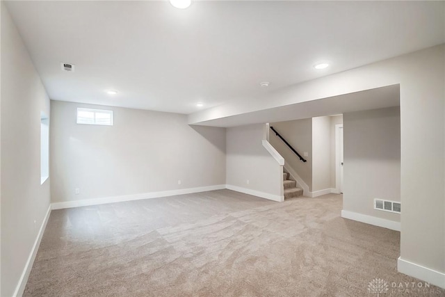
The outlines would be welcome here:
<svg viewBox="0 0 445 297">
<path fill-rule="evenodd" d="M 263 147 L 263 139 L 264 125 L 227 129 L 227 185 L 237 191 L 248 189 L 252 194 L 280 200 L 283 167 Z"/>
</svg>

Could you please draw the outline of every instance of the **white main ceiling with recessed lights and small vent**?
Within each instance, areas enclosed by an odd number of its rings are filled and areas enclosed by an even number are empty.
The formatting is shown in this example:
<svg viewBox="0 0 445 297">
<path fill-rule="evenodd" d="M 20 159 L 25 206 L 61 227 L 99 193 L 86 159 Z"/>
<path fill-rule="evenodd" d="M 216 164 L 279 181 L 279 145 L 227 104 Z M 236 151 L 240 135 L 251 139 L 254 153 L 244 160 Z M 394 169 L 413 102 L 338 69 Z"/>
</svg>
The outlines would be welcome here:
<svg viewBox="0 0 445 297">
<path fill-rule="evenodd" d="M 49 97 L 193 113 L 445 42 L 444 1 L 8 1 Z M 327 70 L 314 70 L 330 61 Z M 74 63 L 74 73 L 60 63 Z M 261 81 L 270 81 L 261 88 Z M 118 90 L 110 96 L 104 90 Z"/>
</svg>

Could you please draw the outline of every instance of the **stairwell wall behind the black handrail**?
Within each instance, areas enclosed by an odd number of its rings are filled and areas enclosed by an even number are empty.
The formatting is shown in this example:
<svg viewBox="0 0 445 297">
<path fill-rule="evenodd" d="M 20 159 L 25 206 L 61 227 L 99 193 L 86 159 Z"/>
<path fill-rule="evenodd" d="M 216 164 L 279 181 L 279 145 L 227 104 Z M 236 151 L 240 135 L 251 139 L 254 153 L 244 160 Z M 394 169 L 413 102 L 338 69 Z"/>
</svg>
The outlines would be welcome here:
<svg viewBox="0 0 445 297">
<path fill-rule="evenodd" d="M 274 122 L 270 123 L 270 126 L 274 127 L 299 154 L 302 156 L 304 152 L 309 154 L 303 156 L 307 162 L 300 161 L 300 158 L 272 130 L 269 131 L 270 144 L 283 156 L 286 166 L 296 171 L 309 187 L 309 191 L 312 191 L 312 119 Z"/>
</svg>

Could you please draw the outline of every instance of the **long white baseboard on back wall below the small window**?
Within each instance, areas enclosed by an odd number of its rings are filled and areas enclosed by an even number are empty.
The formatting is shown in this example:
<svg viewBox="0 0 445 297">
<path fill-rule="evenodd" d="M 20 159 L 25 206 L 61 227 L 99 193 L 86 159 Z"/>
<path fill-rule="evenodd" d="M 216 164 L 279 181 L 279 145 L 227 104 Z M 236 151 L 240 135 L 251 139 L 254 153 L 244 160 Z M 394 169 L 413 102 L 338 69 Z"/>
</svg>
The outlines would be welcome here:
<svg viewBox="0 0 445 297">
<path fill-rule="evenodd" d="M 107 203 L 114 203 L 114 202 L 125 202 L 125 201 L 132 201 L 132 200 L 161 198 L 161 197 L 167 197 L 167 196 L 200 193 L 200 192 L 206 192 L 206 191 L 215 191 L 215 190 L 221 190 L 223 188 L 225 188 L 225 184 L 218 184 L 215 186 L 200 186 L 198 188 L 181 188 L 179 190 L 142 193 L 142 194 L 135 194 L 135 195 L 122 195 L 122 196 L 113 196 L 113 197 L 92 198 L 92 199 L 86 199 L 86 200 L 53 202 L 53 203 L 51 203 L 51 209 L 65 209 L 65 208 L 85 207 L 85 206 L 90 206 L 90 205 L 99 205 L 99 204 L 107 204 Z"/>
</svg>

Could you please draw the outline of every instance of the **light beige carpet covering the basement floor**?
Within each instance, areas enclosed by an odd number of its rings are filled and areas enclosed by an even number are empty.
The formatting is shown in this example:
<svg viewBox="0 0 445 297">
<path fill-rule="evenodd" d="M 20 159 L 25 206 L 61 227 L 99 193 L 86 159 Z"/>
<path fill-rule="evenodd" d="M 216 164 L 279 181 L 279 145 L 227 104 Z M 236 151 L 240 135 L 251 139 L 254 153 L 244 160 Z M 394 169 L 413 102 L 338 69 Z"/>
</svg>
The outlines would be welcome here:
<svg viewBox="0 0 445 297">
<path fill-rule="evenodd" d="M 392 289 L 399 233 L 340 217 L 341 195 L 229 190 L 52 211 L 24 296 L 445 296 Z M 408 290 L 408 291 L 407 291 Z"/>
</svg>

